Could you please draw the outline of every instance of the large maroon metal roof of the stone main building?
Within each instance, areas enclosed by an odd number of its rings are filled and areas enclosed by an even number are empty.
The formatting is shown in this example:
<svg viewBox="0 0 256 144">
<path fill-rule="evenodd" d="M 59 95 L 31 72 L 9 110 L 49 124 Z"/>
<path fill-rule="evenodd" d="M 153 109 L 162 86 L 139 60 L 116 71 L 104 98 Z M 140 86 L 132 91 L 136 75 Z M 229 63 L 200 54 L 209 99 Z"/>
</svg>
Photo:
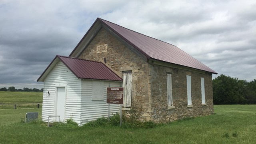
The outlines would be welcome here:
<svg viewBox="0 0 256 144">
<path fill-rule="evenodd" d="M 101 23 L 101 24 L 99 24 Z M 90 36 L 90 31 L 97 30 L 97 26 L 106 26 L 110 30 L 112 30 L 115 34 L 120 36 L 123 40 L 128 42 L 134 48 L 136 48 L 140 53 L 142 53 L 146 58 L 152 60 L 160 60 L 163 62 L 168 62 L 172 64 L 178 64 L 181 66 L 186 66 L 198 70 L 203 70 L 206 72 L 211 72 L 213 74 L 217 74 L 214 70 L 209 68 L 208 66 L 202 64 L 186 52 L 182 51 L 178 47 L 169 44 L 167 42 L 163 42 L 161 40 L 157 40 L 155 38 L 146 36 L 144 34 L 140 34 L 128 28 L 124 28 L 107 20 L 103 20 L 101 18 L 97 18 L 85 36 L 82 38 L 86 39 L 86 37 Z M 98 28 L 99 29 L 99 28 Z M 77 50 L 82 40 L 78 43 L 76 48 L 71 52 L 70 56 L 74 56 L 74 53 L 82 52 L 81 50 Z"/>
</svg>

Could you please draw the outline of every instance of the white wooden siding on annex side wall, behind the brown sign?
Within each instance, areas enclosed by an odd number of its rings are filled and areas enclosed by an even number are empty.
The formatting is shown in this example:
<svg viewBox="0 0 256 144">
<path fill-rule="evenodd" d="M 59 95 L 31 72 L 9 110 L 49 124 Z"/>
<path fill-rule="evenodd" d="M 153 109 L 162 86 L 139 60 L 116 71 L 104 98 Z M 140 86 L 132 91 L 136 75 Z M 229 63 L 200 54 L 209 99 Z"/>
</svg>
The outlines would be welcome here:
<svg viewBox="0 0 256 144">
<path fill-rule="evenodd" d="M 104 84 L 104 100 L 92 100 L 92 81 L 101 82 Z M 120 82 L 103 81 L 103 80 L 82 80 L 81 90 L 81 124 L 86 124 L 89 121 L 97 118 L 108 117 L 108 104 L 106 104 L 106 87 L 120 86 Z M 119 112 L 119 104 L 110 104 L 110 116 Z"/>
</svg>

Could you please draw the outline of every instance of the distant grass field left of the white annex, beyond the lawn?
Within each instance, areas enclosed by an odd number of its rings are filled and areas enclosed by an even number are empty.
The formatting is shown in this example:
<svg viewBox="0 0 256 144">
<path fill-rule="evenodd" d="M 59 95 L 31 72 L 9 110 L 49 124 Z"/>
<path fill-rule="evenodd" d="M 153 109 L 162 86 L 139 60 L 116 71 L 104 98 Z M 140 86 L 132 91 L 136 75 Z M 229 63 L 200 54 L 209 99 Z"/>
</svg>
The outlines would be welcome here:
<svg viewBox="0 0 256 144">
<path fill-rule="evenodd" d="M 2 92 L 0 91 L 0 109 L 36 108 L 37 103 L 42 103 L 42 92 Z"/>
</svg>

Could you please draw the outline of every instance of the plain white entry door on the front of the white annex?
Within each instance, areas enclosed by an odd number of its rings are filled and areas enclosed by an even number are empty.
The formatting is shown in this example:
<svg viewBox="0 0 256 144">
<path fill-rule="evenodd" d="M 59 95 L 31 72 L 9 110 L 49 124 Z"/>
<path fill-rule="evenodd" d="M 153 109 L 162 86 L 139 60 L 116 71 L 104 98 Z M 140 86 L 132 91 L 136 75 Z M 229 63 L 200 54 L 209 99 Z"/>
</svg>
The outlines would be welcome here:
<svg viewBox="0 0 256 144">
<path fill-rule="evenodd" d="M 60 121 L 65 121 L 65 106 L 66 106 L 66 96 L 65 87 L 57 87 L 56 103 L 55 103 L 55 115 L 60 116 Z M 58 121 L 58 118 L 55 119 Z"/>
</svg>

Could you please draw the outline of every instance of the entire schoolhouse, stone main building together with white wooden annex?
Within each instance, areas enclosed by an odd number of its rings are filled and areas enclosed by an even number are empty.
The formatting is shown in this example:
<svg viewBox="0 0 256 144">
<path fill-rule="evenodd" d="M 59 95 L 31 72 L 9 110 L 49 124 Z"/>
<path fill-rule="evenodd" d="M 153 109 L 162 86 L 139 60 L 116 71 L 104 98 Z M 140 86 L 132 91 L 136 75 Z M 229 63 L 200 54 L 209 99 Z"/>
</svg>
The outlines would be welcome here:
<svg viewBox="0 0 256 144">
<path fill-rule="evenodd" d="M 44 82 L 42 120 L 60 115 L 85 124 L 108 116 L 108 86 L 124 87 L 122 111 L 140 120 L 210 115 L 212 74 L 172 44 L 97 18 L 69 57 L 56 56 L 38 78 Z M 114 104 L 110 109 L 119 111 Z"/>
</svg>

